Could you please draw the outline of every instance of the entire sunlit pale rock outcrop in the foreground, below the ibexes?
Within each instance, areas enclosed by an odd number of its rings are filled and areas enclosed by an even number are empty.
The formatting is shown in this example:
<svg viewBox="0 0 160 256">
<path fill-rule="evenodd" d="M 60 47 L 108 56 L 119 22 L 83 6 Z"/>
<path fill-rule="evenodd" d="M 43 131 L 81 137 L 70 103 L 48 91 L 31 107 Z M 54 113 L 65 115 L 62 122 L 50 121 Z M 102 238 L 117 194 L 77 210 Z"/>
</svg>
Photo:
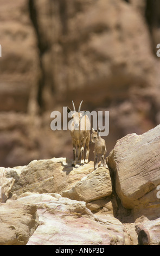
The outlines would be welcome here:
<svg viewBox="0 0 160 256">
<path fill-rule="evenodd" d="M 119 139 L 109 169 L 62 157 L 1 168 L 0 244 L 158 245 L 159 134 Z"/>
</svg>

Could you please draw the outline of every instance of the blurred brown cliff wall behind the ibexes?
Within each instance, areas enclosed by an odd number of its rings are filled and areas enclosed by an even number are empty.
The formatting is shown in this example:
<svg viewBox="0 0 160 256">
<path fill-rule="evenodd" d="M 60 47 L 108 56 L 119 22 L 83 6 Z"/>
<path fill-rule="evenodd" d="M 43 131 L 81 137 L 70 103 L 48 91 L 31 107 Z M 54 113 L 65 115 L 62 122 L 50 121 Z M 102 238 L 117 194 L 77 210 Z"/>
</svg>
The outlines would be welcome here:
<svg viewBox="0 0 160 256">
<path fill-rule="evenodd" d="M 110 111 L 108 153 L 160 123 L 158 0 L 0 3 L 0 166 L 72 159 L 69 131 L 50 129 L 72 100 Z"/>
</svg>

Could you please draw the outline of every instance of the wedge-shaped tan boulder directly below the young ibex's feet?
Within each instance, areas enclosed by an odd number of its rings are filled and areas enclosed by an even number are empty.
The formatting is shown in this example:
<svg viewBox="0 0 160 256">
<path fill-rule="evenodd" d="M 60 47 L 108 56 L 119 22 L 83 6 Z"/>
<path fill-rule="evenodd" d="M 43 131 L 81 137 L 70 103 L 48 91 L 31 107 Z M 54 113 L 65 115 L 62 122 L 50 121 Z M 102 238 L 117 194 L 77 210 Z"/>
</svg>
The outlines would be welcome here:
<svg viewBox="0 0 160 256">
<path fill-rule="evenodd" d="M 109 170 L 99 167 L 86 175 L 68 191 L 63 191 L 62 196 L 74 200 L 91 202 L 112 194 L 112 184 Z"/>
</svg>

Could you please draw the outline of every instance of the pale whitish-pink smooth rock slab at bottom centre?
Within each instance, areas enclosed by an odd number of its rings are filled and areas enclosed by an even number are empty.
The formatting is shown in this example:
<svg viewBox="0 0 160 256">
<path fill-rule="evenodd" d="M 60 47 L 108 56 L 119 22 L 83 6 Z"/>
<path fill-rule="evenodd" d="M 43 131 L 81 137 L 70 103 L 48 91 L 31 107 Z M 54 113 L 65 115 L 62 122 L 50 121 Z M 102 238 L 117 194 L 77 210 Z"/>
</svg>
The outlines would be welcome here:
<svg viewBox="0 0 160 256">
<path fill-rule="evenodd" d="M 35 204 L 40 225 L 27 245 L 128 245 L 129 236 L 113 216 L 94 216 L 85 202 L 30 194 L 17 199 Z"/>
</svg>

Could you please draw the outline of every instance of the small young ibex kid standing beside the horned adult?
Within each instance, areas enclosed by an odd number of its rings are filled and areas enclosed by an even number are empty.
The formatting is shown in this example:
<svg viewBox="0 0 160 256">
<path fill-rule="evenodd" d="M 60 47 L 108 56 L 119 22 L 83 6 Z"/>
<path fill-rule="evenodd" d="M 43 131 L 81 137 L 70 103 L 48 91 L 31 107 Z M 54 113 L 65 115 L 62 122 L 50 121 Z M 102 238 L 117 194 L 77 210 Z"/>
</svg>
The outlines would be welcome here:
<svg viewBox="0 0 160 256">
<path fill-rule="evenodd" d="M 98 168 L 98 155 L 101 156 L 101 164 L 100 166 L 104 166 L 107 168 L 106 160 L 105 160 L 105 154 L 107 152 L 106 150 L 106 143 L 105 140 L 100 137 L 100 128 L 98 128 L 97 132 L 94 131 L 92 128 L 92 134 L 91 134 L 91 143 L 95 143 L 94 145 L 94 170 Z"/>
</svg>

